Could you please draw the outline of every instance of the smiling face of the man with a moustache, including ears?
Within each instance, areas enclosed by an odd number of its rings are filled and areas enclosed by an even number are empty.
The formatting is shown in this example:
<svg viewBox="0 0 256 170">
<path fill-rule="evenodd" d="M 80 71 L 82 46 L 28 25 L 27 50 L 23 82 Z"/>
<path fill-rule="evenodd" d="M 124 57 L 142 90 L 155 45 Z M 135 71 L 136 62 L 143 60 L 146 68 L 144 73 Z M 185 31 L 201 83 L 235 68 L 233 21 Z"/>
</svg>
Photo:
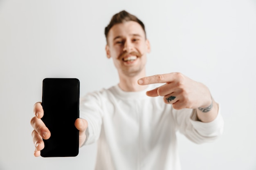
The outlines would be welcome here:
<svg viewBox="0 0 256 170">
<path fill-rule="evenodd" d="M 108 58 L 112 57 L 119 75 L 132 77 L 145 71 L 146 53 L 150 52 L 145 36 L 142 27 L 134 21 L 112 26 L 106 53 Z"/>
</svg>

